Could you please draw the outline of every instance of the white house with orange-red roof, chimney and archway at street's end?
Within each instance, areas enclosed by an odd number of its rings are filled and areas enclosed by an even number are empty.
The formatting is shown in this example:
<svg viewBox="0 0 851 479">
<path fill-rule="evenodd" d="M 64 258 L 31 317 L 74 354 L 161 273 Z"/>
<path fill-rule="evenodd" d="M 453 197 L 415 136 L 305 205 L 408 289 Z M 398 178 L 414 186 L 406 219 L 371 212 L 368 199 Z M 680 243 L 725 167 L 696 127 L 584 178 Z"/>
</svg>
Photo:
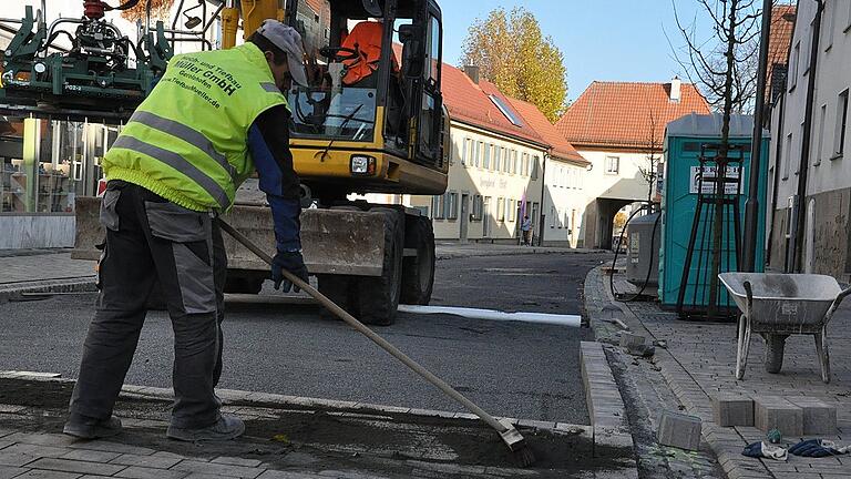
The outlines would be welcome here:
<svg viewBox="0 0 851 479">
<path fill-rule="evenodd" d="M 611 247 L 613 221 L 632 203 L 655 198 L 665 125 L 690 113 L 709 113 L 693 84 L 593 82 L 556 123 L 591 162 L 585 188 L 583 245 Z"/>
</svg>

